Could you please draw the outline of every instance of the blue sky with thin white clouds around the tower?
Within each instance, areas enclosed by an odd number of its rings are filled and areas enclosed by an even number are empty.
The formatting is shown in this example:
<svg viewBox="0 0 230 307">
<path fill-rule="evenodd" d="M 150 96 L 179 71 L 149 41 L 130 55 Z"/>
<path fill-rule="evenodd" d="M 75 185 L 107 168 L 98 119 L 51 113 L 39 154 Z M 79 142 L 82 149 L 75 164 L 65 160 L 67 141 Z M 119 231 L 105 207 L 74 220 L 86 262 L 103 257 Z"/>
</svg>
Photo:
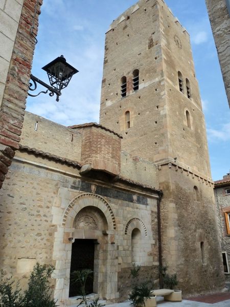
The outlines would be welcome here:
<svg viewBox="0 0 230 307">
<path fill-rule="evenodd" d="M 191 35 L 206 120 L 213 180 L 230 163 L 230 111 L 204 0 L 165 0 Z M 43 0 L 32 73 L 49 83 L 45 64 L 63 54 L 79 70 L 60 101 L 29 97 L 27 111 L 63 125 L 99 121 L 105 32 L 132 0 Z"/>
</svg>

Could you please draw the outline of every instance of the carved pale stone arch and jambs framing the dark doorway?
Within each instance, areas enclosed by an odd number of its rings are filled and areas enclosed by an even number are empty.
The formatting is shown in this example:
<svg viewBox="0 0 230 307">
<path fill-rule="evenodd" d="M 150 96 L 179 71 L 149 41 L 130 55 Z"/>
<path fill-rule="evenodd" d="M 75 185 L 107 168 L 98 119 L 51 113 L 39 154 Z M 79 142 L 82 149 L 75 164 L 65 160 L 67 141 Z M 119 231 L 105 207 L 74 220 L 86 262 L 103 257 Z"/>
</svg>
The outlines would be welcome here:
<svg viewBox="0 0 230 307">
<path fill-rule="evenodd" d="M 95 274 L 94 292 L 100 298 L 111 299 L 117 295 L 117 284 L 110 274 L 117 274 L 109 265 L 116 264 L 117 246 L 114 244 L 116 220 L 108 202 L 100 195 L 82 193 L 70 201 L 63 212 L 55 233 L 53 259 L 56 260 L 53 277 L 56 278 L 55 298 L 60 306 L 70 304 L 68 291 L 72 243 L 75 239 L 94 239 Z M 115 252 L 114 252 L 115 251 Z M 106 268 L 106 269 L 105 269 Z M 116 276 L 115 276 L 116 277 Z"/>
</svg>

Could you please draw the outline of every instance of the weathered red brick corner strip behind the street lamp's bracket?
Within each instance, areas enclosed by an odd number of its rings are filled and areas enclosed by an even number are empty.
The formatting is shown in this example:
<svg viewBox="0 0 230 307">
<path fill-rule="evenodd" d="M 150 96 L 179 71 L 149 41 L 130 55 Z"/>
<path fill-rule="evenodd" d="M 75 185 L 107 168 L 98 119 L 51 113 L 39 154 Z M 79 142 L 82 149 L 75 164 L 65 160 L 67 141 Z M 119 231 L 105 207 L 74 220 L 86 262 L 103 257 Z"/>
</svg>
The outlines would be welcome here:
<svg viewBox="0 0 230 307">
<path fill-rule="evenodd" d="M 25 0 L 22 6 L 16 39 L 10 61 L 9 72 L 0 111 L 0 188 L 2 187 L 14 150 L 19 147 L 21 128 L 24 121 L 27 91 L 35 39 L 31 27 L 36 0 Z M 37 35 L 38 15 L 42 0 L 38 1 L 33 35 Z"/>
</svg>

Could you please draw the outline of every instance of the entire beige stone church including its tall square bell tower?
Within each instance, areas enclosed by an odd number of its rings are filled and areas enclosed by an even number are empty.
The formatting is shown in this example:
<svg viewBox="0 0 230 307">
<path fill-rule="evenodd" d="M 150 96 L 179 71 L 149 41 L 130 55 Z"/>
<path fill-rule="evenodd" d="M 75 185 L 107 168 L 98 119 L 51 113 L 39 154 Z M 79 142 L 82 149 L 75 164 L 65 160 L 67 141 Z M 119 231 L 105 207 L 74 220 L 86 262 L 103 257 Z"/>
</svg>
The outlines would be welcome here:
<svg viewBox="0 0 230 307">
<path fill-rule="evenodd" d="M 163 0 L 140 0 L 107 31 L 100 124 L 26 112 L 0 196 L 1 267 L 26 284 L 36 261 L 53 264 L 61 306 L 82 267 L 108 301 L 127 298 L 133 263 L 157 286 L 167 265 L 187 295 L 223 287 L 189 34 Z"/>
</svg>

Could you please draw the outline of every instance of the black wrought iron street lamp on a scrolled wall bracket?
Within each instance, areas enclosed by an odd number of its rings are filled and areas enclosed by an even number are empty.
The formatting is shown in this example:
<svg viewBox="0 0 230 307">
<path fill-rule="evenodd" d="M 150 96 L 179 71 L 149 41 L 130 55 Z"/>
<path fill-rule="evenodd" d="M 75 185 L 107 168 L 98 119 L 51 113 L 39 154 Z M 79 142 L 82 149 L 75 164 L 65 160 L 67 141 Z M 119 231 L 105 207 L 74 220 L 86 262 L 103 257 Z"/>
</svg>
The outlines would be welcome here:
<svg viewBox="0 0 230 307">
<path fill-rule="evenodd" d="M 50 92 L 49 95 L 54 96 L 54 94 L 56 94 L 56 101 L 59 101 L 59 96 L 61 96 L 61 90 L 68 85 L 73 75 L 78 73 L 78 70 L 68 64 L 63 55 L 57 57 L 49 64 L 42 67 L 42 69 L 47 72 L 51 85 L 44 83 L 43 81 L 31 74 L 30 78 L 33 83 L 30 82 L 29 91 L 35 91 L 37 89 L 37 83 L 46 87 L 47 91 L 41 91 L 37 95 L 32 95 L 28 93 L 28 95 L 36 97 L 41 93 L 47 94 L 48 92 Z"/>
</svg>

